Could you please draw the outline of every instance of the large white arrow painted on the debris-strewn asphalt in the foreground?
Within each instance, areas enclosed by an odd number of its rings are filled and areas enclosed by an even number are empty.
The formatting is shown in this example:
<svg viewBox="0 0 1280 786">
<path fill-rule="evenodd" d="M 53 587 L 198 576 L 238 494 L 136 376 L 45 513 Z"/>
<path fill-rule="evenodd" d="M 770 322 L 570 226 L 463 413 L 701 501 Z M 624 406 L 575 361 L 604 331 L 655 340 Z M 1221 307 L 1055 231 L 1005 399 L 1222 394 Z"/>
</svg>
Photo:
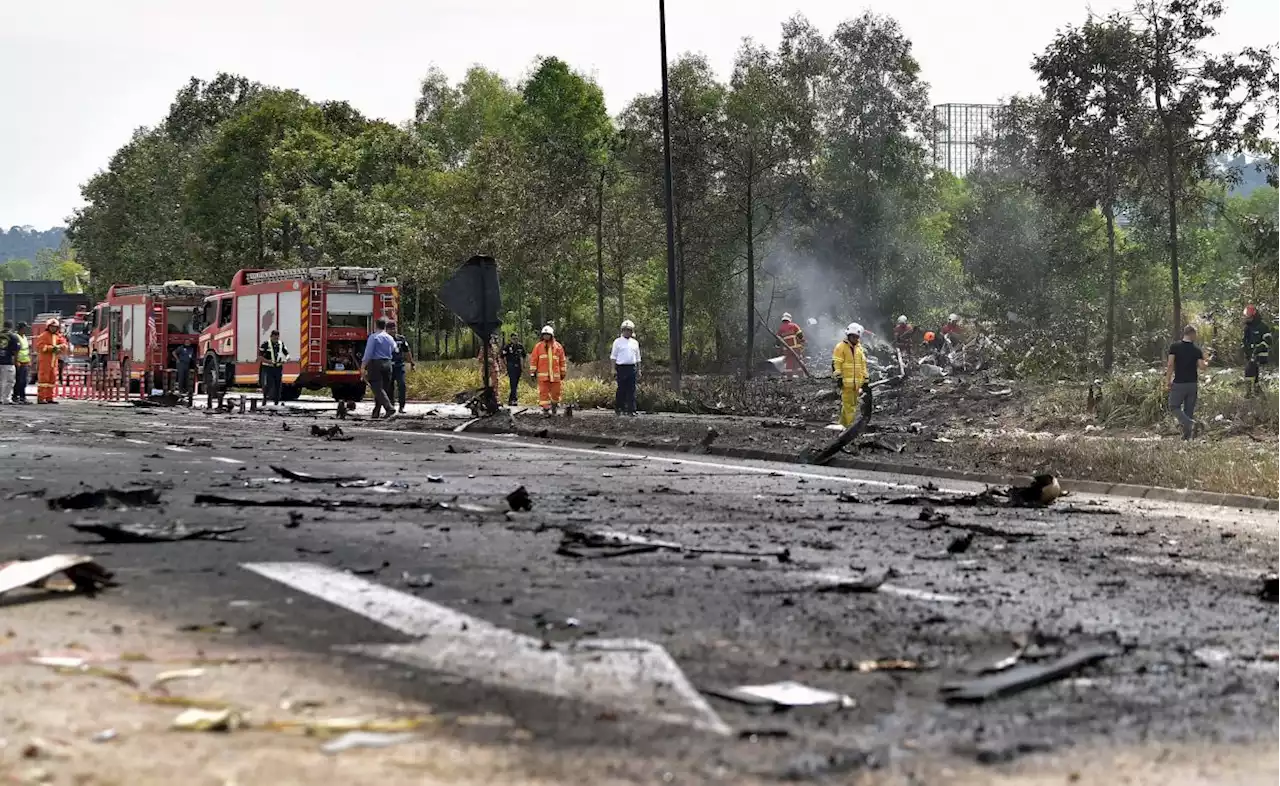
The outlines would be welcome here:
<svg viewBox="0 0 1280 786">
<path fill-rule="evenodd" d="M 335 568 L 306 562 L 256 562 L 243 567 L 420 639 L 410 644 L 343 646 L 343 650 L 730 734 L 667 650 L 652 641 L 593 640 L 543 649 L 543 643 L 532 636 Z"/>
</svg>

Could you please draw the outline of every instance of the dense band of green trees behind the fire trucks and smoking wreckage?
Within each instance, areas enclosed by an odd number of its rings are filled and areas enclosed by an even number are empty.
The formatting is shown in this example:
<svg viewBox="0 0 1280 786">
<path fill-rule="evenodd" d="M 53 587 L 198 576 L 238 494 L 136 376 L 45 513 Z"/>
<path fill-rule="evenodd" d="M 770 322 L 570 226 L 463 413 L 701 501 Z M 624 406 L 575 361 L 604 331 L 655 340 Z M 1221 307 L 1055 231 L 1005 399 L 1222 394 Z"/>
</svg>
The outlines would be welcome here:
<svg viewBox="0 0 1280 786">
<path fill-rule="evenodd" d="M 387 266 L 410 324 L 436 335 L 429 353 L 453 326 L 431 293 L 483 252 L 507 328 L 552 321 L 580 361 L 623 316 L 650 358 L 675 319 L 690 366 L 749 371 L 783 310 L 819 319 L 819 344 L 854 319 L 882 333 L 956 311 L 1027 351 L 1029 373 L 1088 373 L 1149 357 L 1188 316 L 1280 306 L 1280 192 L 1253 166 L 1270 159 L 1244 156 L 1275 142 L 1277 81 L 1267 49 L 1204 54 L 1221 13 L 1142 0 L 1065 28 L 1032 64 L 1042 90 L 1000 111 L 964 179 L 933 165 L 928 86 L 888 17 L 828 33 L 792 18 L 776 49 L 744 41 L 727 81 L 677 58 L 675 314 L 660 93 L 611 118 L 557 58 L 518 84 L 433 70 L 403 127 L 192 79 L 84 186 L 70 236 L 97 288 Z"/>
</svg>

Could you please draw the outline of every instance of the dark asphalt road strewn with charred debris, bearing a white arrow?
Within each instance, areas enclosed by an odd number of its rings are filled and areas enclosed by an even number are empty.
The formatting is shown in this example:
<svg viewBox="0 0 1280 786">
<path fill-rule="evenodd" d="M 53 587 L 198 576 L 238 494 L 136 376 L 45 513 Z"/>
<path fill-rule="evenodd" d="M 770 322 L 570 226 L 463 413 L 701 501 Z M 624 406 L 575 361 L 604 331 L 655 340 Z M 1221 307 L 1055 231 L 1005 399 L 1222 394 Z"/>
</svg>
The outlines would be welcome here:
<svg viewBox="0 0 1280 786">
<path fill-rule="evenodd" d="M 99 556 L 120 581 L 104 602 L 174 626 L 220 623 L 237 645 L 333 657 L 445 712 L 509 713 L 535 732 L 530 745 L 608 751 L 611 772 L 637 782 L 1015 759 L 1065 772 L 1075 751 L 1265 744 L 1280 730 L 1280 607 L 1257 597 L 1274 515 L 1069 498 L 1043 511 L 940 507 L 950 518 L 925 529 L 922 504 L 891 501 L 980 489 L 412 420 L 344 421 L 349 442 L 310 435 L 334 422 L 300 410 L 5 408 L 3 553 Z M 278 483 L 270 465 L 404 485 Z M 163 503 L 49 504 L 140 485 L 161 489 Z M 517 486 L 532 509 L 507 513 Z M 237 535 L 251 540 L 101 544 L 69 526 L 174 521 L 244 525 Z M 960 527 L 984 531 L 946 554 Z M 741 554 L 581 558 L 558 553 L 566 529 Z M 817 591 L 886 572 L 877 591 Z M 1014 636 L 1033 663 L 1112 654 L 1011 696 L 942 700 L 943 684 L 1000 661 Z M 394 644 L 404 646 L 384 646 Z M 928 668 L 858 668 L 883 658 Z M 851 705 L 778 712 L 710 695 L 782 680 Z"/>
</svg>

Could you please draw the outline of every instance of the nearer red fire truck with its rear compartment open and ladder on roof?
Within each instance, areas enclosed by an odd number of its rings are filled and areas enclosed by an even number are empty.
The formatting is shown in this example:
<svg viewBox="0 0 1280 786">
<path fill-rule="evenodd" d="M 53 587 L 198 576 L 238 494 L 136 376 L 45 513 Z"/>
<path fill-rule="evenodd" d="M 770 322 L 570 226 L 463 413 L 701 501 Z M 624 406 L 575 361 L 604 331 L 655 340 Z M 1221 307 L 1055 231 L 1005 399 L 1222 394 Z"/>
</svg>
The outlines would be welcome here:
<svg viewBox="0 0 1280 786">
<path fill-rule="evenodd" d="M 380 268 L 241 270 L 229 292 L 205 301 L 205 384 L 259 385 L 259 347 L 279 330 L 289 351 L 282 398 L 329 388 L 338 401 L 360 401 L 365 341 L 378 319 L 394 321 L 398 310 L 399 288 Z"/>
</svg>

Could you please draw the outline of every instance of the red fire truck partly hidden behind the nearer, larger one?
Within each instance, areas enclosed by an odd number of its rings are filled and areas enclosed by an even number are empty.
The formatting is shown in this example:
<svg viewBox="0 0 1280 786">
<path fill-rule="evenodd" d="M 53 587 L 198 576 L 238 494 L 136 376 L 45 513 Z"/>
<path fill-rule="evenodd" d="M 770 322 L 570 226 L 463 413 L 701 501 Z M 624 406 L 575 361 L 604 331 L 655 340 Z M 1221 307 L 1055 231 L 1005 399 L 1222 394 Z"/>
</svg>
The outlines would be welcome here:
<svg viewBox="0 0 1280 786">
<path fill-rule="evenodd" d="M 120 285 L 106 291 L 93 309 L 90 364 L 129 361 L 129 376 L 159 373 L 174 366 L 173 351 L 200 338 L 205 300 L 218 287 L 189 280 Z"/>
</svg>

